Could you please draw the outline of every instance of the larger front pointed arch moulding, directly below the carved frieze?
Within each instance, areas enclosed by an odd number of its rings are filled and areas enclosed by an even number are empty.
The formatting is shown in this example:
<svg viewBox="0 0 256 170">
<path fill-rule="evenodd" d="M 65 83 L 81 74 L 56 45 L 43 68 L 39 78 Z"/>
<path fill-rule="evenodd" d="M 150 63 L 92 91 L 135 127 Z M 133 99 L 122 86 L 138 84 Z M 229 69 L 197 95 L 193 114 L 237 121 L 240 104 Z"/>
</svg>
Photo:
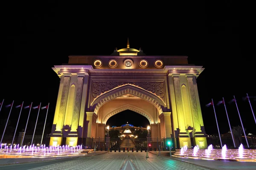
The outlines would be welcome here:
<svg viewBox="0 0 256 170">
<path fill-rule="evenodd" d="M 99 97 L 97 97 L 93 102 L 91 103 L 91 106 L 96 105 L 94 112 L 98 114 L 99 108 L 104 105 L 106 102 L 115 99 L 116 97 L 125 95 L 125 94 L 132 94 L 134 96 L 138 96 L 141 99 L 144 99 L 151 104 L 153 104 L 156 108 L 159 114 L 163 113 L 161 105 L 165 106 L 165 103 L 163 100 L 161 100 L 158 96 L 150 93 L 149 91 L 145 91 L 143 88 L 136 87 L 134 85 L 123 85 L 119 88 L 115 88 L 111 91 L 108 91 Z"/>
</svg>

